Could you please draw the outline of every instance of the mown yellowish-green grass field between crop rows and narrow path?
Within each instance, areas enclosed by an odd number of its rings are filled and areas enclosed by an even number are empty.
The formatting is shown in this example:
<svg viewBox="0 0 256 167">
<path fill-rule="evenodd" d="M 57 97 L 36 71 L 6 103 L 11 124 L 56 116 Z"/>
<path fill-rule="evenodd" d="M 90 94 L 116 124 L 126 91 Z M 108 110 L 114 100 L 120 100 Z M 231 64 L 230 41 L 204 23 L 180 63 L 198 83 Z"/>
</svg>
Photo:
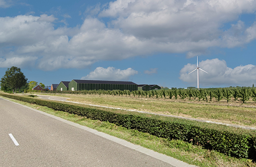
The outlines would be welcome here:
<svg viewBox="0 0 256 167">
<path fill-rule="evenodd" d="M 50 95 L 47 93 L 47 95 Z M 192 117 L 227 124 L 245 125 L 256 128 L 254 103 L 239 101 L 211 103 L 197 100 L 174 100 L 164 98 L 138 98 L 133 96 L 52 94 L 85 104 L 103 105 L 122 109 L 136 109 L 150 113 Z"/>
</svg>

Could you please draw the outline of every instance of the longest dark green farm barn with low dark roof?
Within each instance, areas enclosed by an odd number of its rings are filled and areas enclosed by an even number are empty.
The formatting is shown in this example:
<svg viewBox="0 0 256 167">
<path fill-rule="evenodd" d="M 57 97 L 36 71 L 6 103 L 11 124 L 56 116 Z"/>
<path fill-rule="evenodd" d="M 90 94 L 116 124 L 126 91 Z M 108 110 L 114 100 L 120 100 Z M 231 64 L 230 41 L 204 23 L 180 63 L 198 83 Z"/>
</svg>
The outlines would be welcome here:
<svg viewBox="0 0 256 167">
<path fill-rule="evenodd" d="M 134 82 L 125 81 L 95 81 L 74 79 L 69 84 L 70 90 L 137 90 L 138 85 Z"/>
</svg>

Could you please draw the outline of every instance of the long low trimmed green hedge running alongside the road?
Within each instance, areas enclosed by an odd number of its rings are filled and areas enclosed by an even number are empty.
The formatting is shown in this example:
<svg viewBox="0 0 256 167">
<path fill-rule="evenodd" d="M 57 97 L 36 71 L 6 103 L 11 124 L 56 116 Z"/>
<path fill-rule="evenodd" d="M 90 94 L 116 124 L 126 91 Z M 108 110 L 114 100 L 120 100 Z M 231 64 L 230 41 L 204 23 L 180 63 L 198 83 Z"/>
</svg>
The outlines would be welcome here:
<svg viewBox="0 0 256 167">
<path fill-rule="evenodd" d="M 0 94 L 0 96 L 47 106 L 54 110 L 74 113 L 94 120 L 108 121 L 118 126 L 137 129 L 140 132 L 163 138 L 192 142 L 236 158 L 256 160 L 256 131 L 215 124 L 209 126 L 208 123 L 177 118 L 169 120 L 161 119 L 161 117 L 159 119 L 157 117 L 150 118 L 146 114 L 139 116 L 136 114 L 114 113 L 9 94 Z"/>
</svg>

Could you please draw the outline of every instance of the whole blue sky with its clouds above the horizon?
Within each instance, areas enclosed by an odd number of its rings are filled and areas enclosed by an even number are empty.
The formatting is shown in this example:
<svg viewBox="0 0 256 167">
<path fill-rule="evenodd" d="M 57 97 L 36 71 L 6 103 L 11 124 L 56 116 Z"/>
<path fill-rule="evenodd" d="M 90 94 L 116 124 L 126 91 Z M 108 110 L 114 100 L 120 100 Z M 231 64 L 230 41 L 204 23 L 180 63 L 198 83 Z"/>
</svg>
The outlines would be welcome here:
<svg viewBox="0 0 256 167">
<path fill-rule="evenodd" d="M 256 84 L 256 0 L 0 0 L 0 77 Z"/>
</svg>

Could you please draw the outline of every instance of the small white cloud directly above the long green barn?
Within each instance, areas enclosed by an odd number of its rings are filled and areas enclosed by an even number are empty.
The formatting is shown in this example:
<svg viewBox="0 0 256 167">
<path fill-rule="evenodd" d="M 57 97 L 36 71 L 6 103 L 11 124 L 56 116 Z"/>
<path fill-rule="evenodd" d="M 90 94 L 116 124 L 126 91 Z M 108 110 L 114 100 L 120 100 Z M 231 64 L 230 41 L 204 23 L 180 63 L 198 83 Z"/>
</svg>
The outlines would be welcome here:
<svg viewBox="0 0 256 167">
<path fill-rule="evenodd" d="M 138 74 L 138 71 L 132 68 L 127 68 L 126 70 L 116 69 L 114 67 L 97 67 L 94 71 L 91 71 L 85 77 L 81 79 L 91 79 L 91 80 L 108 80 L 108 81 L 128 81 L 130 76 Z"/>
</svg>

